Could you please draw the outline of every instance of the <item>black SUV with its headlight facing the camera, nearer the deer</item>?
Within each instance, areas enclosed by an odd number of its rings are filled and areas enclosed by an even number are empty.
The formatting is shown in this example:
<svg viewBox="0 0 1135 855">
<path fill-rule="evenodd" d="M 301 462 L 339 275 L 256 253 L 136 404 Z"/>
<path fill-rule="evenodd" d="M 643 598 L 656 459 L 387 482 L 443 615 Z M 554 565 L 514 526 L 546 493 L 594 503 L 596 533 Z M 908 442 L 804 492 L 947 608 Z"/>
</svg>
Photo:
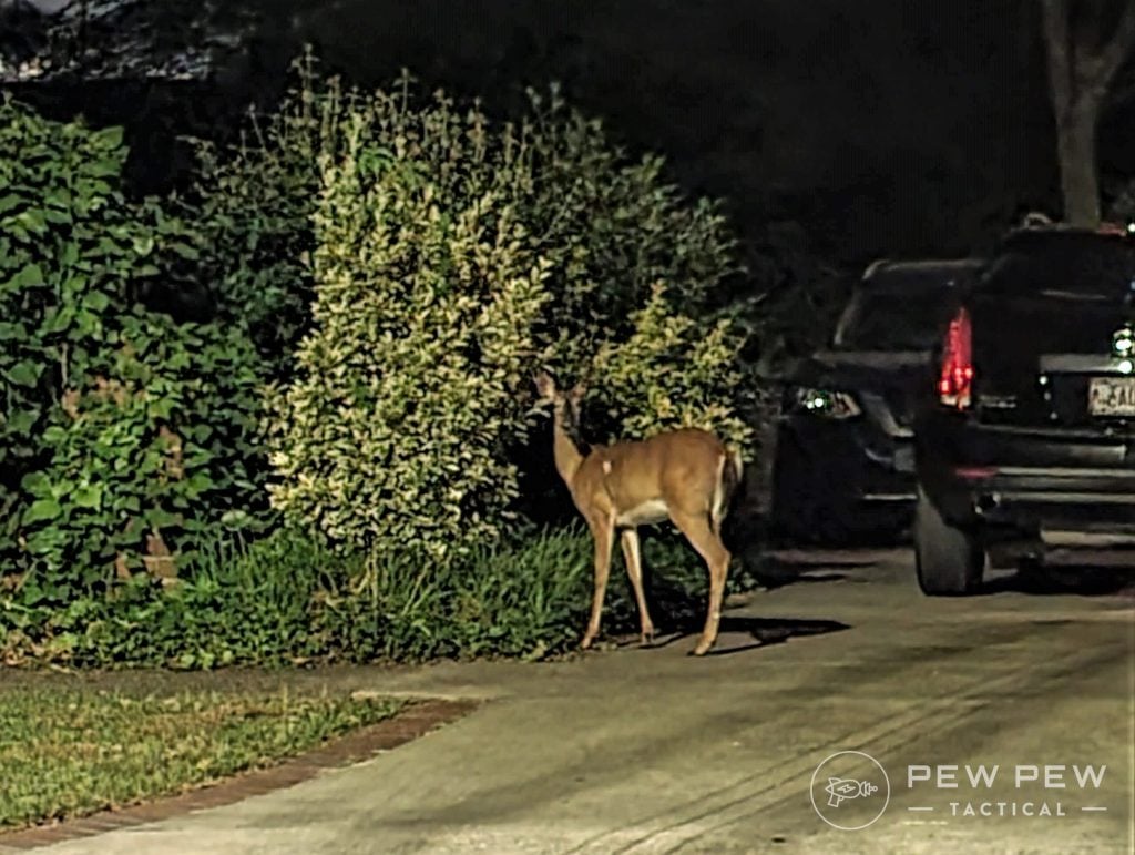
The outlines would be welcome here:
<svg viewBox="0 0 1135 855">
<path fill-rule="evenodd" d="M 788 366 L 772 472 L 774 531 L 792 542 L 893 539 L 915 504 L 914 400 L 951 294 L 975 259 L 881 260 L 856 282 L 829 346 Z"/>
</svg>

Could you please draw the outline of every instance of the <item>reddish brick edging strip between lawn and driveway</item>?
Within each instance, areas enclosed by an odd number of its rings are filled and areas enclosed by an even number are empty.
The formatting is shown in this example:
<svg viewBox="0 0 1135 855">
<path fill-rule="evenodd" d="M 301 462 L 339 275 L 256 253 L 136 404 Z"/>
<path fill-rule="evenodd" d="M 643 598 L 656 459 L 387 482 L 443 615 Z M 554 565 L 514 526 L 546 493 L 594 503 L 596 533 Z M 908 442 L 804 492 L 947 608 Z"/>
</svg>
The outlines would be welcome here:
<svg viewBox="0 0 1135 855">
<path fill-rule="evenodd" d="M 182 816 L 194 811 L 220 807 L 292 787 L 314 778 L 321 771 L 358 763 L 376 754 L 397 748 L 443 724 L 456 721 L 480 706 L 478 701 L 411 702 L 392 719 L 333 739 L 319 748 L 285 760 L 267 769 L 242 772 L 217 783 L 174 796 L 119 810 L 104 810 L 86 816 L 36 825 L 18 831 L 0 831 L 0 853 L 15 853 L 41 846 L 94 837 L 107 831 Z"/>
</svg>

